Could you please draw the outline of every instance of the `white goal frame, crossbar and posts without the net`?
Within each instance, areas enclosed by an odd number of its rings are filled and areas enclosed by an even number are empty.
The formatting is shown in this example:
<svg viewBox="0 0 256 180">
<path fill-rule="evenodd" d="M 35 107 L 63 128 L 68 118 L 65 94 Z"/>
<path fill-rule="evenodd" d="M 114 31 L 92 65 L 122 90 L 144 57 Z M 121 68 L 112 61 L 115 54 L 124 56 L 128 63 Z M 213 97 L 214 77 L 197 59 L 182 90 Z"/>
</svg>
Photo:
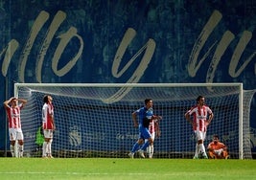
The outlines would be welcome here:
<svg viewBox="0 0 256 180">
<path fill-rule="evenodd" d="M 18 87 L 44 86 L 44 87 L 120 87 L 126 90 L 131 87 L 215 87 L 215 86 L 238 86 L 239 87 L 239 159 L 244 159 L 243 146 L 243 83 L 14 83 L 14 97 L 18 97 Z"/>
</svg>

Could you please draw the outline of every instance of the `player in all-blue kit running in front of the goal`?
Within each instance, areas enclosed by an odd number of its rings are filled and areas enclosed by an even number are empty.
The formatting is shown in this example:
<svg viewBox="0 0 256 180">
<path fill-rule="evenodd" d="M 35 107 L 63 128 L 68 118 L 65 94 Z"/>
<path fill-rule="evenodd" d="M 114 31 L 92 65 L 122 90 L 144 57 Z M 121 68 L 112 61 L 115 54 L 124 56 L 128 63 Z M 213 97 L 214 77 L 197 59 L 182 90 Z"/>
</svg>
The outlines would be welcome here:
<svg viewBox="0 0 256 180">
<path fill-rule="evenodd" d="M 152 105 L 153 102 L 151 99 L 146 99 L 145 106 L 135 110 L 132 112 L 131 117 L 133 121 L 134 127 L 139 127 L 139 137 L 136 143 L 132 146 L 131 151 L 128 153 L 130 158 L 134 157 L 134 153 L 137 149 L 141 146 L 138 150 L 140 156 L 145 158 L 144 150 L 153 143 L 153 139 L 151 138 L 151 132 L 149 130 L 149 125 L 151 120 L 161 120 L 161 116 L 153 115 Z M 148 140 L 145 142 L 145 140 Z"/>
</svg>

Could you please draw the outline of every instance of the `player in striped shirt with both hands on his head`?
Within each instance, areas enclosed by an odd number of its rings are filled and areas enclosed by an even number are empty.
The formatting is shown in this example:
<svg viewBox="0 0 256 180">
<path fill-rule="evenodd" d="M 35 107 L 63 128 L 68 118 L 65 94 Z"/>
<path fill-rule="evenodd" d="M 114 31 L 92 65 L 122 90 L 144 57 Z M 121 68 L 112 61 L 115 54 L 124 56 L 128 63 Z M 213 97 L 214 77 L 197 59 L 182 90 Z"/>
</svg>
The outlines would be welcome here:
<svg viewBox="0 0 256 180">
<path fill-rule="evenodd" d="M 18 102 L 21 102 L 18 104 Z M 26 100 L 12 97 L 10 100 L 4 101 L 4 107 L 7 112 L 10 136 L 10 148 L 12 157 L 23 157 L 24 136 L 21 129 L 20 111 L 27 103 Z M 17 154 L 15 153 L 15 143 L 17 141 Z"/>
</svg>

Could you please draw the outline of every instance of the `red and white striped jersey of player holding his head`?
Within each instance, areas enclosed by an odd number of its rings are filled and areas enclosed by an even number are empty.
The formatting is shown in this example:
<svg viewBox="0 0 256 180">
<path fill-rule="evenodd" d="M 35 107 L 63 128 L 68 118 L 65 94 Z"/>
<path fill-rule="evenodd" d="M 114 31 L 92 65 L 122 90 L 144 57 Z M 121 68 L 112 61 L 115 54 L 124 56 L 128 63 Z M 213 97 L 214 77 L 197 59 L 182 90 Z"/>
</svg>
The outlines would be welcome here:
<svg viewBox="0 0 256 180">
<path fill-rule="evenodd" d="M 15 107 L 12 107 L 12 106 L 6 107 L 9 128 L 21 128 L 20 110 L 22 108 L 23 108 L 23 103 L 20 103 Z"/>
</svg>

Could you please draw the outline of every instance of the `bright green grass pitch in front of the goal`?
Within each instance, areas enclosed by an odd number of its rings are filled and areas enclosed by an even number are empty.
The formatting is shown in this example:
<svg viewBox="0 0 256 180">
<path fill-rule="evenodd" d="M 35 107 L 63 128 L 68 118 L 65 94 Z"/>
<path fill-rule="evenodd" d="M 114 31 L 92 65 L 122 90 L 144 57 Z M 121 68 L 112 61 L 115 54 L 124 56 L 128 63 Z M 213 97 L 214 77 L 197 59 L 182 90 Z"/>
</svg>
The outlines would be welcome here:
<svg viewBox="0 0 256 180">
<path fill-rule="evenodd" d="M 256 178 L 255 160 L 1 158 L 4 179 L 243 180 Z"/>
</svg>

